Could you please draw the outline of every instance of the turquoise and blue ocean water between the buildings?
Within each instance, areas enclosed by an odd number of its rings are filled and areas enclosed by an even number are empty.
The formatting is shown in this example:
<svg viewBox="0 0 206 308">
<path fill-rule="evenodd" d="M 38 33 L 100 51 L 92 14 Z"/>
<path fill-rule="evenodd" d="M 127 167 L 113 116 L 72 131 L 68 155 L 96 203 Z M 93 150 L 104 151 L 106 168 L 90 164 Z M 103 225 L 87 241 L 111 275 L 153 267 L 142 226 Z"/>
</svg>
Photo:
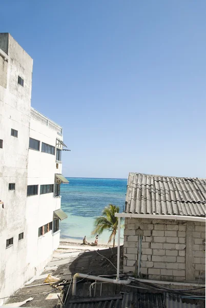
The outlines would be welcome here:
<svg viewBox="0 0 206 308">
<path fill-rule="evenodd" d="M 127 192 L 126 179 L 67 178 L 69 184 L 61 184 L 61 208 L 68 218 L 60 222 L 60 239 L 70 242 L 94 242 L 91 232 L 95 217 L 101 215 L 108 204 L 119 206 L 122 212 Z M 104 231 L 99 244 L 107 244 L 110 233 Z M 120 232 L 123 243 L 123 229 Z M 117 243 L 117 235 L 116 235 Z"/>
</svg>

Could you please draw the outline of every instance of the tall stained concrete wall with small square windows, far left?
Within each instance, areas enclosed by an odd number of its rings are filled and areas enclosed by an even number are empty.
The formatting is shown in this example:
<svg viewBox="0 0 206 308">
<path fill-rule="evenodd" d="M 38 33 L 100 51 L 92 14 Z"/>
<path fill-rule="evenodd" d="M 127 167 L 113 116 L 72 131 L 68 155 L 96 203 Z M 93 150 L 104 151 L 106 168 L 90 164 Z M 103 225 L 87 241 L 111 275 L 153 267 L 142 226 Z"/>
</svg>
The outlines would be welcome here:
<svg viewBox="0 0 206 308">
<path fill-rule="evenodd" d="M 0 48 L 10 59 L 0 55 L 0 298 L 12 294 L 27 279 L 26 190 L 32 85 L 31 57 L 8 33 L 0 34 Z M 18 75 L 24 87 L 18 84 Z M 11 128 L 18 138 L 11 136 Z M 8 190 L 15 183 L 15 190 Z M 18 234 L 24 239 L 18 241 Z M 13 245 L 6 248 L 6 240 Z M 1 300 L 0 300 L 1 303 Z"/>
</svg>

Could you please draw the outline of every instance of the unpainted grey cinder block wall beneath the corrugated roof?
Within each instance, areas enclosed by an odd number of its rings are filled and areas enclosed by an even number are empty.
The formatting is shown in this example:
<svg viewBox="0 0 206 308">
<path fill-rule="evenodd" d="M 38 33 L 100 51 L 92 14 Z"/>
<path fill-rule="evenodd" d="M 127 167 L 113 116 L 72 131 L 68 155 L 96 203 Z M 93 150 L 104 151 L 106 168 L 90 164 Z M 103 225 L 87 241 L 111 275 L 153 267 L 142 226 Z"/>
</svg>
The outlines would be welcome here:
<svg viewBox="0 0 206 308">
<path fill-rule="evenodd" d="M 139 235 L 141 278 L 188 282 L 205 279 L 205 223 L 126 218 L 125 273 L 137 275 Z"/>
</svg>

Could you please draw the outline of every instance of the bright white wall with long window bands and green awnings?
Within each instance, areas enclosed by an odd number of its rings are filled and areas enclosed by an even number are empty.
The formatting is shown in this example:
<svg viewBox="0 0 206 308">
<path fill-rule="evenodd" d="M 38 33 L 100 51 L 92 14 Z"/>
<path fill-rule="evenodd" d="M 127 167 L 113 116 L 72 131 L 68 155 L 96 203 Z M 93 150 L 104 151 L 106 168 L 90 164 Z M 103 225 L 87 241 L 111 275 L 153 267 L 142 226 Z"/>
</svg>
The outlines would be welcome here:
<svg viewBox="0 0 206 308">
<path fill-rule="evenodd" d="M 62 140 L 57 132 L 45 124 L 31 118 L 30 137 L 40 141 L 40 150 L 29 149 L 28 185 L 39 185 L 38 195 L 27 197 L 26 220 L 28 229 L 27 261 L 34 273 L 43 270 L 51 260 L 53 249 L 59 245 L 59 232 L 52 231 L 38 237 L 38 228 L 53 220 L 53 211 L 60 208 L 60 197 L 54 193 L 40 195 L 40 185 L 54 184 L 55 173 L 61 173 L 61 164 L 56 169 L 56 154 L 41 151 L 42 142 L 56 146 L 56 138 Z M 35 270 L 36 268 L 36 270 Z"/>
</svg>

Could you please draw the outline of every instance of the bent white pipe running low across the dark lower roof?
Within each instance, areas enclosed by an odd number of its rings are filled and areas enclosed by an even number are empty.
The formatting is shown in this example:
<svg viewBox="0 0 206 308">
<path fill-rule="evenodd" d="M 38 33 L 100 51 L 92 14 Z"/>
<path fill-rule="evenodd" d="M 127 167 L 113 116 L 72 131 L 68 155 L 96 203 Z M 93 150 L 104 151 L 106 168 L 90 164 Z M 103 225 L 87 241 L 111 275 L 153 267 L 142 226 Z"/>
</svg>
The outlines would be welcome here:
<svg viewBox="0 0 206 308">
<path fill-rule="evenodd" d="M 98 276 L 76 273 L 73 276 L 72 295 L 76 295 L 77 278 L 87 278 L 87 279 L 91 279 L 91 280 L 104 281 L 104 282 L 115 283 L 115 284 L 129 284 L 132 281 L 131 279 L 116 280 L 116 279 L 109 279 L 109 278 L 105 278 L 105 277 L 98 277 Z"/>
</svg>

